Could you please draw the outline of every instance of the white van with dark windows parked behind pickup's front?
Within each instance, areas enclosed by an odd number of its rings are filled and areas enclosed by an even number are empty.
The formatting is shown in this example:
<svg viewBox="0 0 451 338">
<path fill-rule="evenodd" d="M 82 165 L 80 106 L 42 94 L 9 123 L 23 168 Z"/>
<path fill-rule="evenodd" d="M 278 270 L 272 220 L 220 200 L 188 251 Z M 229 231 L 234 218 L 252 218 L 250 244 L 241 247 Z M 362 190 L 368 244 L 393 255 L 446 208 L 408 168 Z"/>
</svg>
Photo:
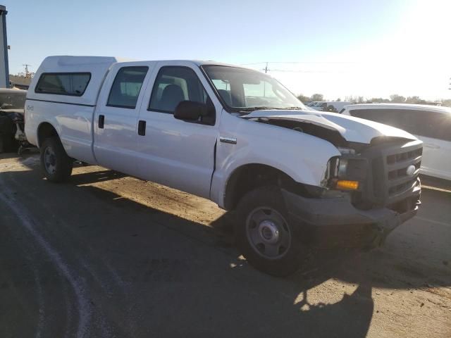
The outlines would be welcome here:
<svg viewBox="0 0 451 338">
<path fill-rule="evenodd" d="M 343 115 L 400 128 L 424 142 L 420 173 L 451 180 L 451 108 L 423 104 L 354 104 Z"/>
</svg>

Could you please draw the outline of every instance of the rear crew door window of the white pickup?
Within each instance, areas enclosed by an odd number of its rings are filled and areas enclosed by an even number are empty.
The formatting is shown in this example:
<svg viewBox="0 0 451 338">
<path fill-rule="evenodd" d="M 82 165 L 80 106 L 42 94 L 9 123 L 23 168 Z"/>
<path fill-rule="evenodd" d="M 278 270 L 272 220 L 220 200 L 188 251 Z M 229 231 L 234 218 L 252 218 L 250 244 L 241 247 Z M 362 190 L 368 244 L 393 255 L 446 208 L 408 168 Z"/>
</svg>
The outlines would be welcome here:
<svg viewBox="0 0 451 338">
<path fill-rule="evenodd" d="M 149 70 L 147 66 L 121 68 L 111 86 L 106 106 L 134 109 L 147 70 Z"/>
</svg>

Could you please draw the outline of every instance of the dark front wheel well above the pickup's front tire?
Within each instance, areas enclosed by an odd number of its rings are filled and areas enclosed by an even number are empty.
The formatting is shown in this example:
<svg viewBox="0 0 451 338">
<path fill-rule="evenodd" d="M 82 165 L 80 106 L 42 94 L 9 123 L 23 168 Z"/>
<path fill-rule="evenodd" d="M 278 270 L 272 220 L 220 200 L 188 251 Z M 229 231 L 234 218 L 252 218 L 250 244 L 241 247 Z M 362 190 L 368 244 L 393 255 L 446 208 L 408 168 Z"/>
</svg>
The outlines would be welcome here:
<svg viewBox="0 0 451 338">
<path fill-rule="evenodd" d="M 232 210 L 247 192 L 263 185 L 277 185 L 300 194 L 305 193 L 303 184 L 295 182 L 283 171 L 264 164 L 247 164 L 237 168 L 226 185 L 224 208 Z"/>
</svg>

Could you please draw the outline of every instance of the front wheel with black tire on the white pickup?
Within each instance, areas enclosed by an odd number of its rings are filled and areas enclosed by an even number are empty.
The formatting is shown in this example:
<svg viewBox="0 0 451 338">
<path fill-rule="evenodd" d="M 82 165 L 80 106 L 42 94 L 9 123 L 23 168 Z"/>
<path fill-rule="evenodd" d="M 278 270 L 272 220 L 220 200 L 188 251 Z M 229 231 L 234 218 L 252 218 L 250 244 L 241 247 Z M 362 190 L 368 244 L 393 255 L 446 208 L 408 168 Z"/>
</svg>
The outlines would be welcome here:
<svg viewBox="0 0 451 338">
<path fill-rule="evenodd" d="M 260 223 L 254 220 L 256 215 L 262 220 Z M 265 236 L 265 232 L 269 232 L 269 236 Z M 259 235 L 261 238 L 257 241 L 251 238 Z M 259 187 L 245 194 L 240 200 L 237 207 L 235 242 L 242 255 L 257 270 L 277 277 L 290 275 L 298 270 L 306 253 L 305 247 L 297 238 L 298 235 L 299 231 L 288 221 L 288 211 L 278 187 Z M 265 242 L 268 239 L 276 239 L 276 242 Z M 264 243 L 256 245 L 254 242 L 258 241 Z M 267 249 L 275 254 L 269 257 L 271 255 L 266 253 Z"/>
</svg>

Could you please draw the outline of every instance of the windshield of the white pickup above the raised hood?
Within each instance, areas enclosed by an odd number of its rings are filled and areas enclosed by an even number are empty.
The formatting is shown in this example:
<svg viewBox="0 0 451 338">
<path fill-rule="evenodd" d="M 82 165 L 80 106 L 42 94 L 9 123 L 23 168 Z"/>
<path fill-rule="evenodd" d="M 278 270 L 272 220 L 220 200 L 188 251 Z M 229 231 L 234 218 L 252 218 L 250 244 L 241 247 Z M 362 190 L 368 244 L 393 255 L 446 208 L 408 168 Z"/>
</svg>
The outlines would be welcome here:
<svg viewBox="0 0 451 338">
<path fill-rule="evenodd" d="M 304 104 L 272 77 L 257 70 L 204 65 L 206 75 L 223 102 L 233 111 L 305 109 Z"/>
</svg>

